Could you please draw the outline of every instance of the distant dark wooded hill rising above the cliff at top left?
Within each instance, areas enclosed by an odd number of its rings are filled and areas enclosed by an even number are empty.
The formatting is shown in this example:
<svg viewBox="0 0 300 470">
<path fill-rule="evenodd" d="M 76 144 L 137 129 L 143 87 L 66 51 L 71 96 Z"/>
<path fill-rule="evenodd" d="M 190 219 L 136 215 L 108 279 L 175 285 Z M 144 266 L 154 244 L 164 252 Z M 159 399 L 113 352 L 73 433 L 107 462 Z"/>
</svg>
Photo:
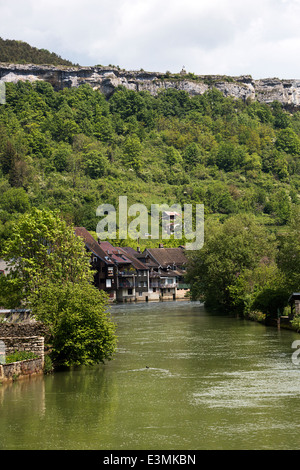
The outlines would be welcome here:
<svg viewBox="0 0 300 470">
<path fill-rule="evenodd" d="M 13 64 L 51 64 L 72 65 L 69 60 L 62 59 L 47 49 L 38 49 L 24 41 L 0 38 L 0 62 Z"/>
</svg>

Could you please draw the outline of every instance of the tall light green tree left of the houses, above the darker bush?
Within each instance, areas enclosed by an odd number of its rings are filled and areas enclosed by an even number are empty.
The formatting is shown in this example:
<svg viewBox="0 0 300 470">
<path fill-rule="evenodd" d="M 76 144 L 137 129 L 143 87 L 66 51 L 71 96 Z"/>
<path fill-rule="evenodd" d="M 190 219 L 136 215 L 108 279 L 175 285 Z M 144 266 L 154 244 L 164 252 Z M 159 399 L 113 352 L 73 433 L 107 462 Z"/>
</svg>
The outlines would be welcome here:
<svg viewBox="0 0 300 470">
<path fill-rule="evenodd" d="M 2 257 L 11 264 L 11 274 L 3 279 L 8 303 L 26 301 L 29 293 L 44 280 L 58 283 L 92 279 L 89 255 L 58 214 L 33 209 L 22 215 L 6 240 Z"/>
</svg>

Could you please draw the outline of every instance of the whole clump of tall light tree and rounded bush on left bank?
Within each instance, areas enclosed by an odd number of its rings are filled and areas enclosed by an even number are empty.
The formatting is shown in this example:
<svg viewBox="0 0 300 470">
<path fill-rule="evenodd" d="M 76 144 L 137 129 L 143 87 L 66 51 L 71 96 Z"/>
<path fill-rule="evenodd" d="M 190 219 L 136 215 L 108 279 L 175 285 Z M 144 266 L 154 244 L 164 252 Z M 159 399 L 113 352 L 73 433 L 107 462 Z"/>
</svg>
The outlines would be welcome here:
<svg viewBox="0 0 300 470">
<path fill-rule="evenodd" d="M 108 298 L 92 285 L 90 254 L 57 213 L 33 209 L 20 217 L 2 255 L 12 273 L 1 276 L 1 301 L 30 308 L 49 327 L 55 364 L 110 359 L 116 337 Z"/>
</svg>

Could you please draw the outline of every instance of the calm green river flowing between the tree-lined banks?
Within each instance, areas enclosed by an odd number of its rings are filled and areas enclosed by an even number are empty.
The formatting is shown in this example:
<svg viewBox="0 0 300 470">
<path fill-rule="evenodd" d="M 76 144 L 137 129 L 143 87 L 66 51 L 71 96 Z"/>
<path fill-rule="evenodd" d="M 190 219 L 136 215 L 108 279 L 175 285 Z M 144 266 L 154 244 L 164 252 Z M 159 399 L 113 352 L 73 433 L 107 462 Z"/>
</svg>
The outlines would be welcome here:
<svg viewBox="0 0 300 470">
<path fill-rule="evenodd" d="M 298 334 L 185 301 L 111 310 L 113 361 L 0 386 L 1 450 L 300 449 Z"/>
</svg>

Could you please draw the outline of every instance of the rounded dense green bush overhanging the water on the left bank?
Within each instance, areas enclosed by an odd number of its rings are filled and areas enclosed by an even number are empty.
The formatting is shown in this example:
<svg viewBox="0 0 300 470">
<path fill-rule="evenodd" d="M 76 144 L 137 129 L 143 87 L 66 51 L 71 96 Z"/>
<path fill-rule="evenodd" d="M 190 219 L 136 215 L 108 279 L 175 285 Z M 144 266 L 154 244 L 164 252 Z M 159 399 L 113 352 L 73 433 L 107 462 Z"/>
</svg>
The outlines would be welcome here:
<svg viewBox="0 0 300 470">
<path fill-rule="evenodd" d="M 112 358 L 116 328 L 104 291 L 86 282 L 47 281 L 30 300 L 33 314 L 49 328 L 56 366 L 93 365 Z"/>
</svg>

